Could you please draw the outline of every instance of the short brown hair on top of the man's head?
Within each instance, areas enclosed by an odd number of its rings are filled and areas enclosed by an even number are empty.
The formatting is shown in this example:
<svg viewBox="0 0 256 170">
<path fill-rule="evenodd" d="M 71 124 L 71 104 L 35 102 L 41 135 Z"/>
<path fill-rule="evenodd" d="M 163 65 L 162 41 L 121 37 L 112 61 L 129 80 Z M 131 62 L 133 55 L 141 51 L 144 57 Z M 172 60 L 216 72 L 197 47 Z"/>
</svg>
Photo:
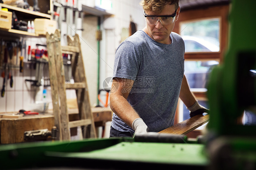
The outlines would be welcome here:
<svg viewBox="0 0 256 170">
<path fill-rule="evenodd" d="M 161 12 L 167 4 L 174 4 L 175 9 L 179 7 L 179 0 L 142 0 L 140 5 L 145 11 Z"/>
</svg>

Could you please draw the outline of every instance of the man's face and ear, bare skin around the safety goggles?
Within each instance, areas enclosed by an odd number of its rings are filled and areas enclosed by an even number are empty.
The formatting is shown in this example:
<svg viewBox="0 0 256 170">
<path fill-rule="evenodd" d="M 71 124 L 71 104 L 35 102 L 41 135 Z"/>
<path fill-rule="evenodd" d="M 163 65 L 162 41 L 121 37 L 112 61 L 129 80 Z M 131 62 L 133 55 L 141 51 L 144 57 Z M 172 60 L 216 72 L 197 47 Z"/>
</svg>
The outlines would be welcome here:
<svg viewBox="0 0 256 170">
<path fill-rule="evenodd" d="M 175 21 L 178 20 L 179 10 L 180 10 L 180 7 L 177 9 L 174 22 L 168 25 L 163 26 L 160 21 L 158 21 L 156 25 L 149 25 L 148 23 L 146 23 L 147 34 L 156 42 L 160 42 L 163 44 L 170 44 L 171 43 L 170 34 L 174 28 Z M 167 4 L 166 7 L 164 7 L 163 11 L 161 12 L 146 11 L 145 13 L 148 15 L 172 15 L 174 14 L 174 12 L 175 12 L 175 5 Z"/>
</svg>

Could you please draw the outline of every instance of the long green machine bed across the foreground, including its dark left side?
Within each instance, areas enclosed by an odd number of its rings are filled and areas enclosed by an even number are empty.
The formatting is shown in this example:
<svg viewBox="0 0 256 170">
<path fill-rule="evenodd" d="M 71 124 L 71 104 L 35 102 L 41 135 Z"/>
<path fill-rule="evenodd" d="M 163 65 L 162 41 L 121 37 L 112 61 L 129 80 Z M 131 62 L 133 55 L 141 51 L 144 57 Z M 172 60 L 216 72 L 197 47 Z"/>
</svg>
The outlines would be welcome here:
<svg viewBox="0 0 256 170">
<path fill-rule="evenodd" d="M 67 160 L 77 158 L 99 163 L 125 161 L 202 167 L 208 164 L 203 144 L 134 142 L 132 138 L 1 145 L 0 158 L 1 169 L 40 167 L 42 162 L 47 162 L 49 167 L 65 166 L 70 163 Z M 28 160 L 29 164 L 24 163 Z"/>
</svg>

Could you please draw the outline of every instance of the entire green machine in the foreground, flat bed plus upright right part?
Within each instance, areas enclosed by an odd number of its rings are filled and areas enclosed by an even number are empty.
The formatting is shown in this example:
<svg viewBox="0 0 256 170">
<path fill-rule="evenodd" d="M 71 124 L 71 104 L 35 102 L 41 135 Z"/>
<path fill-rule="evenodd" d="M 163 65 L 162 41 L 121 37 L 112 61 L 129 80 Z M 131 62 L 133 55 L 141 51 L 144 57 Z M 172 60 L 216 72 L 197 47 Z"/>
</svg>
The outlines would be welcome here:
<svg viewBox="0 0 256 170">
<path fill-rule="evenodd" d="M 208 88 L 207 135 L 30 142 L 0 146 L 0 169 L 256 169 L 256 127 L 239 125 L 256 106 L 256 1 L 233 0 L 229 48 Z"/>
</svg>

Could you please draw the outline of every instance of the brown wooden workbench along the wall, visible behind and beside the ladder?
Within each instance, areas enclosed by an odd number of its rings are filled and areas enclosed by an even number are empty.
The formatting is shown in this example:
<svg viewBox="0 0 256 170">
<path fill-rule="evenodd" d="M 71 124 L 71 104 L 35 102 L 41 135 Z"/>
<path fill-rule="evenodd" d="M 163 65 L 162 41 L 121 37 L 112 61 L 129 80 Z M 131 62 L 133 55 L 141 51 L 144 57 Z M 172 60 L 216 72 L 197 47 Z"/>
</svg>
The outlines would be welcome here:
<svg viewBox="0 0 256 170">
<path fill-rule="evenodd" d="M 112 120 L 113 112 L 110 108 L 95 107 L 91 108 L 95 126 L 104 126 L 105 122 Z M 70 121 L 78 118 L 77 109 L 69 109 Z M 48 113 L 39 115 L 17 115 L 17 113 L 0 114 L 0 143 L 10 144 L 26 142 L 24 139 L 25 131 L 48 129 L 54 126 L 54 116 L 50 110 Z M 77 128 L 71 128 L 71 136 L 77 135 Z M 50 138 L 48 140 L 51 140 Z"/>
</svg>

